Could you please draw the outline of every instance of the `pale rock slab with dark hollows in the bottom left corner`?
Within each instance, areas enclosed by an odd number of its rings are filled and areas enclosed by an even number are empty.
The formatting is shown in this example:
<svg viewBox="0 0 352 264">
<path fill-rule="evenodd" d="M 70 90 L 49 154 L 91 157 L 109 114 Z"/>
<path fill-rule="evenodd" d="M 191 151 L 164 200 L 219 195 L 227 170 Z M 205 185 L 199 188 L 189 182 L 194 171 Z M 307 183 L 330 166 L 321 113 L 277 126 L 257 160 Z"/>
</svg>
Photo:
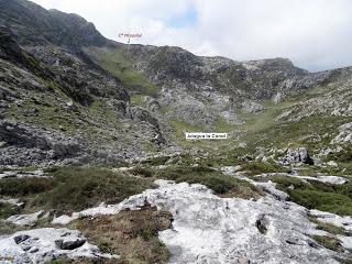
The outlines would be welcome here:
<svg viewBox="0 0 352 264">
<path fill-rule="evenodd" d="M 45 263 L 61 256 L 69 258 L 118 257 L 101 254 L 98 246 L 88 243 L 77 230 L 46 228 L 0 237 L 1 264 Z"/>
</svg>

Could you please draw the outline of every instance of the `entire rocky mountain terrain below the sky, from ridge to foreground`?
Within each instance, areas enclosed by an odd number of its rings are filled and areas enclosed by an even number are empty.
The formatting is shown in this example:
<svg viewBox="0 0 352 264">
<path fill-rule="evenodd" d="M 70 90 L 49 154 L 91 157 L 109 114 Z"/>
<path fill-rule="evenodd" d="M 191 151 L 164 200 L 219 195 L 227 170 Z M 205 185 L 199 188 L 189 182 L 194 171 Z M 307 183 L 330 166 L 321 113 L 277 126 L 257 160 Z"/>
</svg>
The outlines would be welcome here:
<svg viewBox="0 0 352 264">
<path fill-rule="evenodd" d="M 26 0 L 0 10 L 0 262 L 350 263 L 352 67 L 127 45 Z"/>
</svg>

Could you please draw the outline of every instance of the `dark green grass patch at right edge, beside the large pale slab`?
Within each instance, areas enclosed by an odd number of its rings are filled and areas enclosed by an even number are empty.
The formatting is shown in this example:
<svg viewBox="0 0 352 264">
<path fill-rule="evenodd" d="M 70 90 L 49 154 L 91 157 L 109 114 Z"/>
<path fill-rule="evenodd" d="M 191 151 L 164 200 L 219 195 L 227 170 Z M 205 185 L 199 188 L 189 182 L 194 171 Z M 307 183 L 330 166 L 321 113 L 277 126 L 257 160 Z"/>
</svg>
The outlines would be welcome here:
<svg viewBox="0 0 352 264">
<path fill-rule="evenodd" d="M 308 209 L 329 211 L 341 216 L 352 215 L 352 184 L 327 185 L 318 182 L 304 183 L 298 178 L 274 176 L 277 188 L 290 199 Z M 294 186 L 294 189 L 290 188 Z"/>
</svg>

